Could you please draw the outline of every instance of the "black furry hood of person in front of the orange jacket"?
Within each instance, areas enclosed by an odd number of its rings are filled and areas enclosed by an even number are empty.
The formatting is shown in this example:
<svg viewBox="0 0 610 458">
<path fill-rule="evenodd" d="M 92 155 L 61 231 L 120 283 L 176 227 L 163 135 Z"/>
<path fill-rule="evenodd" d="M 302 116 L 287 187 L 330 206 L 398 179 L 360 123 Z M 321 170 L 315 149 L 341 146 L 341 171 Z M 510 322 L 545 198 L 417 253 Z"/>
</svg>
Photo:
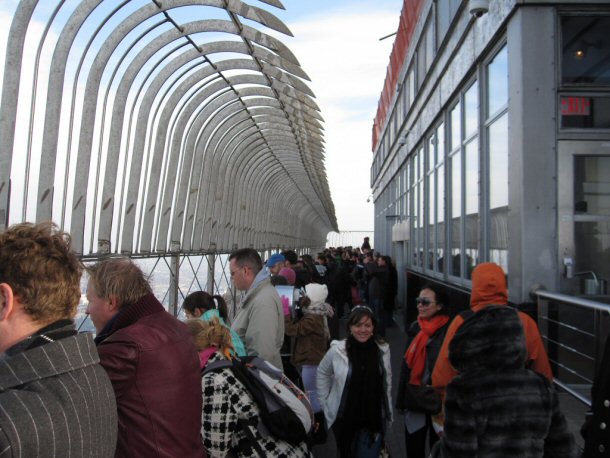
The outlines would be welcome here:
<svg viewBox="0 0 610 458">
<path fill-rule="evenodd" d="M 449 361 L 460 373 L 524 367 L 525 335 L 517 311 L 487 306 L 468 317 L 449 344 Z"/>
</svg>

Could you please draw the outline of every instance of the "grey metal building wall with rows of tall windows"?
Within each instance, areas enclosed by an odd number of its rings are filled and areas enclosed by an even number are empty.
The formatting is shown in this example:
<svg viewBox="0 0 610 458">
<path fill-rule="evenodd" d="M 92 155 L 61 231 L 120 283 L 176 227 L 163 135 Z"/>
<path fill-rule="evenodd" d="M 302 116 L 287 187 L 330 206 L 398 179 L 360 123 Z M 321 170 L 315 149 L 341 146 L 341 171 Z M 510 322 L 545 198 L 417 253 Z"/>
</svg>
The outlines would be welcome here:
<svg viewBox="0 0 610 458">
<path fill-rule="evenodd" d="M 475 18 L 468 1 L 423 3 L 371 167 L 375 247 L 399 271 L 467 291 L 492 261 L 511 302 L 565 289 L 558 190 L 573 185 L 557 182 L 558 138 L 607 140 L 610 124 L 560 128 L 560 21 L 603 12 L 610 2 L 506 0 Z"/>
</svg>

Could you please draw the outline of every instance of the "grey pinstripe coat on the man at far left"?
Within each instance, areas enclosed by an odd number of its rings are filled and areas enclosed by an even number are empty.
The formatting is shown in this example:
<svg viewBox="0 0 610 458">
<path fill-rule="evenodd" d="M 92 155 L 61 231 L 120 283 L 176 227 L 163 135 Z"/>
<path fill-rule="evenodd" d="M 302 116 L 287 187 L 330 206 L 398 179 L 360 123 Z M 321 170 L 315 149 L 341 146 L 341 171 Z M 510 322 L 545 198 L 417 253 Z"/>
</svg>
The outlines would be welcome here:
<svg viewBox="0 0 610 458">
<path fill-rule="evenodd" d="M 0 458 L 112 457 L 116 437 L 112 385 L 90 334 L 0 360 Z"/>
</svg>

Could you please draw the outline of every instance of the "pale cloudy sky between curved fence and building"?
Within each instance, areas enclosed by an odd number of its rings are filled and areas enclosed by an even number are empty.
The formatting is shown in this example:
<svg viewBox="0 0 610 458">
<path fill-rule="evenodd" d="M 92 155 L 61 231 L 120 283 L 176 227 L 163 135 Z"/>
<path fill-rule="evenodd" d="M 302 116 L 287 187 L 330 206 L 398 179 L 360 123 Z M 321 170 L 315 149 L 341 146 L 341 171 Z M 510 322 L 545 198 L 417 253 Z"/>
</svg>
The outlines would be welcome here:
<svg viewBox="0 0 610 458">
<path fill-rule="evenodd" d="M 373 229 L 371 131 L 402 0 L 283 0 L 268 9 L 294 34 L 283 37 L 311 78 L 325 120 L 326 170 L 339 229 Z"/>
</svg>

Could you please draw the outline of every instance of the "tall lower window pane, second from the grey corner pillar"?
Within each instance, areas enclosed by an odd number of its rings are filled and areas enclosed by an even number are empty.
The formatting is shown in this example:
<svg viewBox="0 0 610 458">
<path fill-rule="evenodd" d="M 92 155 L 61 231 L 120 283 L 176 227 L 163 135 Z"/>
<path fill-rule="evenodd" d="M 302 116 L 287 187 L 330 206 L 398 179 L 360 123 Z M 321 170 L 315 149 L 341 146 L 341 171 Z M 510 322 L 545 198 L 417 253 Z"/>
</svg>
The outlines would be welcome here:
<svg viewBox="0 0 610 458">
<path fill-rule="evenodd" d="M 479 262 L 479 141 L 466 146 L 466 278 Z"/>
</svg>

